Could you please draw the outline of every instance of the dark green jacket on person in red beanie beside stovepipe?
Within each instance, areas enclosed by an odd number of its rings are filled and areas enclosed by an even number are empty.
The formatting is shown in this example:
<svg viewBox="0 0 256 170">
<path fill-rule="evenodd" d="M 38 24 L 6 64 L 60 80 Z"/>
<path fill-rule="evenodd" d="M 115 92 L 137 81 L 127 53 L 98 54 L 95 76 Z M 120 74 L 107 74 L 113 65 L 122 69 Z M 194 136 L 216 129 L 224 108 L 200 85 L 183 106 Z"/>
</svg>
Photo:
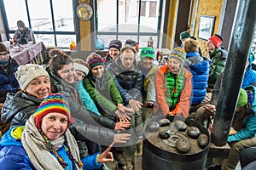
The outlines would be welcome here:
<svg viewBox="0 0 256 170">
<path fill-rule="evenodd" d="M 227 59 L 227 52 L 224 49 L 216 48 L 213 53 L 210 52 L 210 72 L 208 78 L 208 88 L 213 88 L 218 75 L 224 71 L 224 66 Z"/>
</svg>

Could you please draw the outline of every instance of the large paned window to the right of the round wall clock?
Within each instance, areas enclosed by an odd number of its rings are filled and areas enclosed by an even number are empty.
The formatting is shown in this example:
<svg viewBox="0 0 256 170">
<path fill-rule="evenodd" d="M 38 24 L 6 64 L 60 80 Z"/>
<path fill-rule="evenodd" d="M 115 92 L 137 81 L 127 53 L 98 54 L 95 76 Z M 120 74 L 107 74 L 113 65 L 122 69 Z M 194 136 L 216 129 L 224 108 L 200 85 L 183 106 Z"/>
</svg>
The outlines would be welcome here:
<svg viewBox="0 0 256 170">
<path fill-rule="evenodd" d="M 154 48 L 159 46 L 162 0 L 97 0 L 96 37 L 108 44 L 119 39 L 139 42 L 139 47 L 148 45 L 153 37 Z"/>
</svg>

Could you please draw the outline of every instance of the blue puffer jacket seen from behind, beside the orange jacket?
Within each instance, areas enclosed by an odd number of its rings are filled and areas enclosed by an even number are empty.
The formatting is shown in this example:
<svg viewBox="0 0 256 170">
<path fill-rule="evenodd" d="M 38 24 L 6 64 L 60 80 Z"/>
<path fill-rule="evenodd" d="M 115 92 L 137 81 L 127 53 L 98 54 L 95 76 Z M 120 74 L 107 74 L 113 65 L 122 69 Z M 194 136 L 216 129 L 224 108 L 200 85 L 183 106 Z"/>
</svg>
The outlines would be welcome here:
<svg viewBox="0 0 256 170">
<path fill-rule="evenodd" d="M 209 60 L 203 60 L 198 53 L 187 53 L 192 77 L 192 105 L 201 104 L 207 95 L 207 82 L 210 70 Z"/>
</svg>

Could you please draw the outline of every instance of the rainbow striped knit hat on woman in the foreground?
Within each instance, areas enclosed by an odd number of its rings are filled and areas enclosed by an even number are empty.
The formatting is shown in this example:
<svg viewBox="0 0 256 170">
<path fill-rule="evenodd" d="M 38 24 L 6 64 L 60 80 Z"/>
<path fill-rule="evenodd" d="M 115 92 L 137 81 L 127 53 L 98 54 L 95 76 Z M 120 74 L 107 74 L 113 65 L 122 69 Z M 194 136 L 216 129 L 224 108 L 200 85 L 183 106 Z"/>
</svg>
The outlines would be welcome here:
<svg viewBox="0 0 256 170">
<path fill-rule="evenodd" d="M 42 117 L 48 113 L 57 112 L 67 116 L 68 123 L 70 121 L 70 109 L 66 97 L 62 94 L 50 94 L 38 106 L 38 110 L 34 113 L 34 119 L 37 127 L 41 129 L 40 123 Z"/>
</svg>

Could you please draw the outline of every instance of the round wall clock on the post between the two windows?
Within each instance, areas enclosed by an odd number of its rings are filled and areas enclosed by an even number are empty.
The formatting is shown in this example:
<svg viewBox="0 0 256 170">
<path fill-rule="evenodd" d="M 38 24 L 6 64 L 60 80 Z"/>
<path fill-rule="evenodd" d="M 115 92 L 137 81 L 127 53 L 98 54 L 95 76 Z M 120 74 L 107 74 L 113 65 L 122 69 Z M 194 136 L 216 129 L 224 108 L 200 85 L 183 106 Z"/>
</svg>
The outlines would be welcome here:
<svg viewBox="0 0 256 170">
<path fill-rule="evenodd" d="M 80 20 L 90 20 L 93 14 L 93 9 L 88 3 L 80 3 L 76 11 Z"/>
</svg>

